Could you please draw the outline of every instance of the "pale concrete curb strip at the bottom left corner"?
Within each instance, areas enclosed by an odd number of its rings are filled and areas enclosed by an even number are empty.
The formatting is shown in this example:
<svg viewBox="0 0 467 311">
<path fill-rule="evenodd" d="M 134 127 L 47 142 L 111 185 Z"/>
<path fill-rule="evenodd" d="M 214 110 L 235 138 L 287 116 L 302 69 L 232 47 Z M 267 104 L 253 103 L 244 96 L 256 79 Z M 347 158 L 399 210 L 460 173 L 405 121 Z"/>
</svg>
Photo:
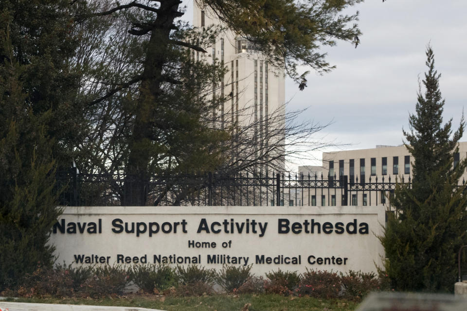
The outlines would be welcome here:
<svg viewBox="0 0 467 311">
<path fill-rule="evenodd" d="M 0 301 L 0 310 L 8 311 L 162 311 L 134 307 L 108 307 L 86 305 L 58 305 L 47 303 L 24 303 Z"/>
</svg>

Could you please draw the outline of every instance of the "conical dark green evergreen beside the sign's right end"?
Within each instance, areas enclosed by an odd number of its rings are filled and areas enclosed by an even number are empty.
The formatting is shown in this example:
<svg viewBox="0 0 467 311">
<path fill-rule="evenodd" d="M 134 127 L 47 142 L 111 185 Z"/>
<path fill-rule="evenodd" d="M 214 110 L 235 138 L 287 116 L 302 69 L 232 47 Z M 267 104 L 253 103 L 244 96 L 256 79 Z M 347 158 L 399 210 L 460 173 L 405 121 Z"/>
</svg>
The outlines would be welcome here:
<svg viewBox="0 0 467 311">
<path fill-rule="evenodd" d="M 467 241 L 467 198 L 464 187 L 457 187 L 466 161 L 454 165 L 465 123 L 462 120 L 454 133 L 451 120 L 442 124 L 440 75 L 430 46 L 426 54 L 426 91 L 419 90 L 410 132 L 404 131 L 405 146 L 414 159 L 412 187 L 397 185 L 396 214 L 390 215 L 380 240 L 386 273 L 397 290 L 452 292 L 457 252 Z"/>
</svg>

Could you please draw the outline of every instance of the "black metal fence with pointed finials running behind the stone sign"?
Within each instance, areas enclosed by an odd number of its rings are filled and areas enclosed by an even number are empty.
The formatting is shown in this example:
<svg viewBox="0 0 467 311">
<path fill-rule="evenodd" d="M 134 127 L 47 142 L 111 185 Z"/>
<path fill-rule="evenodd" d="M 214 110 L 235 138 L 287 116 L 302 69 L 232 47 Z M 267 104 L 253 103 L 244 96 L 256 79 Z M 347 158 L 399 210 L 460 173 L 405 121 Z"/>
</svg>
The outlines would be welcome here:
<svg viewBox="0 0 467 311">
<path fill-rule="evenodd" d="M 57 174 L 62 206 L 121 206 L 140 180 L 119 174 Z M 411 186 L 411 180 L 407 182 Z M 146 206 L 391 206 L 395 178 L 273 173 L 152 176 L 144 181 Z M 126 187 L 125 187 L 126 186 Z M 127 192 L 127 193 L 125 193 Z"/>
</svg>

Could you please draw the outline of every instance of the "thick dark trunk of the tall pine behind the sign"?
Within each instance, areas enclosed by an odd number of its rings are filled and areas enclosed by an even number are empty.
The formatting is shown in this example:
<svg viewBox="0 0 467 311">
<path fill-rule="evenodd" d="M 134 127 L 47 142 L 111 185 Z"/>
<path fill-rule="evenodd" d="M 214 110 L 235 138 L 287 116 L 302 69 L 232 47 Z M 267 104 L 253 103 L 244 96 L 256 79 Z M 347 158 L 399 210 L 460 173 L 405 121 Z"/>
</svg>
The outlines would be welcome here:
<svg viewBox="0 0 467 311">
<path fill-rule="evenodd" d="M 163 82 L 163 67 L 170 52 L 170 31 L 180 1 L 161 1 L 160 12 L 152 23 L 146 59 L 144 62 L 143 80 L 140 86 L 139 99 L 135 107 L 135 120 L 129 156 L 126 165 L 126 177 L 122 205 L 145 206 L 147 185 L 149 182 L 149 164 L 154 145 L 153 128 L 157 118 L 158 105 Z M 157 142 L 156 142 L 157 143 Z"/>
</svg>

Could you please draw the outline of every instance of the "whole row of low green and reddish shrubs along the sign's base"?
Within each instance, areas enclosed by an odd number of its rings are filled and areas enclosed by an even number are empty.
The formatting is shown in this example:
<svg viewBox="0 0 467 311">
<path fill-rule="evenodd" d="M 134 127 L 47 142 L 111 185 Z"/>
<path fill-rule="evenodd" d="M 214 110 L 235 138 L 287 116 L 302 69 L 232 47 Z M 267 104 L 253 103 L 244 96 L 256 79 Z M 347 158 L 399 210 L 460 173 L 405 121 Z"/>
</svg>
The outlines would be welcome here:
<svg viewBox="0 0 467 311">
<path fill-rule="evenodd" d="M 342 298 L 360 301 L 372 291 L 389 290 L 387 277 L 374 273 L 349 271 L 346 274 L 306 270 L 271 271 L 253 276 L 251 266 L 227 266 L 216 272 L 203 266 L 169 266 L 157 264 L 125 266 L 39 267 L 18 288 L 1 295 L 23 297 L 106 297 L 120 296 L 131 284 L 139 291 L 164 295 L 216 294 L 215 285 L 233 294 L 281 294 L 317 298 Z M 134 287 L 133 287 L 134 288 Z"/>
</svg>

